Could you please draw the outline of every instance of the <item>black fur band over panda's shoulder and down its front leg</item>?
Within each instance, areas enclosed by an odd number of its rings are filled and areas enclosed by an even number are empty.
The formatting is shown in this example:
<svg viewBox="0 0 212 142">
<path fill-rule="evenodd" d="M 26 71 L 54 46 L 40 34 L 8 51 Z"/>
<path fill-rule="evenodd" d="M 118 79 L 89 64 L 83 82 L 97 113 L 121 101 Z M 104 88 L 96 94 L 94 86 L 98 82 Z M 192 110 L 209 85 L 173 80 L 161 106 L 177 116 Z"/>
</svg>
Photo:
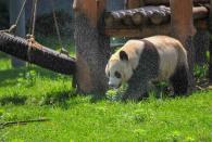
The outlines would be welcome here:
<svg viewBox="0 0 212 142">
<path fill-rule="evenodd" d="M 128 89 L 123 99 L 140 100 L 147 98 L 148 81 L 159 75 L 160 57 L 155 47 L 147 41 L 140 54 L 139 64 L 128 81 Z"/>
</svg>

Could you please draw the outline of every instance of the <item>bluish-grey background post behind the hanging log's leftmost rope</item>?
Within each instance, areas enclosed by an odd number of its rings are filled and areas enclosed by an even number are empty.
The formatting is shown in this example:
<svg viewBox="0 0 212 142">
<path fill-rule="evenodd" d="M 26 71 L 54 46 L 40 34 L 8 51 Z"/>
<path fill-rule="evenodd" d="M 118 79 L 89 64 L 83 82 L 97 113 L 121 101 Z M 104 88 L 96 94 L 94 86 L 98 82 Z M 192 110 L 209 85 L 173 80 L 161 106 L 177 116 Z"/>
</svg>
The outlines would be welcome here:
<svg viewBox="0 0 212 142">
<path fill-rule="evenodd" d="M 20 10 L 22 8 L 24 0 L 10 0 L 10 25 L 14 24 L 17 15 L 20 14 Z M 15 35 L 20 37 L 25 36 L 25 11 L 23 11 L 20 21 L 17 23 L 17 29 Z M 17 60 L 16 57 L 12 56 L 12 66 L 18 67 L 24 66 L 25 63 L 21 60 Z"/>
</svg>

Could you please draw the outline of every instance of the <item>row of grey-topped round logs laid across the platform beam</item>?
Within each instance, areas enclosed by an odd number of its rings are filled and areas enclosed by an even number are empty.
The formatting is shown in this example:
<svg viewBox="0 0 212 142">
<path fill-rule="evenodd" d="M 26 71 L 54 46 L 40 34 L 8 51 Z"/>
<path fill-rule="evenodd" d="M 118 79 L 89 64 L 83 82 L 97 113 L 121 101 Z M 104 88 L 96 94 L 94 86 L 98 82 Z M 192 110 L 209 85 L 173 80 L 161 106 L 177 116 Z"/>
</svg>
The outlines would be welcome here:
<svg viewBox="0 0 212 142">
<path fill-rule="evenodd" d="M 121 10 L 108 12 L 105 14 L 105 26 L 112 27 L 116 25 L 120 27 L 122 24 L 127 26 L 140 26 L 145 23 L 160 25 L 170 22 L 171 10 L 167 7 L 144 7 L 132 10 Z M 192 8 L 194 20 L 205 18 L 209 15 L 209 10 L 205 7 Z"/>
</svg>

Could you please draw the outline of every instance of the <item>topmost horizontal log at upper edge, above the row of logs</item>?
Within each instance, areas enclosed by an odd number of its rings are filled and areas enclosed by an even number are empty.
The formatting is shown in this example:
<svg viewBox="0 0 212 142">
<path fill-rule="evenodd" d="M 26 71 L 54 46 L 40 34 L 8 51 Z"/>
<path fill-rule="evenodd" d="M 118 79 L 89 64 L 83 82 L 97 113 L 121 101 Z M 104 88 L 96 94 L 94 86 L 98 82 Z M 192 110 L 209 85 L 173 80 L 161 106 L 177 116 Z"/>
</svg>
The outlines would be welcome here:
<svg viewBox="0 0 212 142">
<path fill-rule="evenodd" d="M 192 0 L 194 5 L 209 3 L 210 0 Z M 145 5 L 170 5 L 170 0 L 144 0 Z"/>
</svg>

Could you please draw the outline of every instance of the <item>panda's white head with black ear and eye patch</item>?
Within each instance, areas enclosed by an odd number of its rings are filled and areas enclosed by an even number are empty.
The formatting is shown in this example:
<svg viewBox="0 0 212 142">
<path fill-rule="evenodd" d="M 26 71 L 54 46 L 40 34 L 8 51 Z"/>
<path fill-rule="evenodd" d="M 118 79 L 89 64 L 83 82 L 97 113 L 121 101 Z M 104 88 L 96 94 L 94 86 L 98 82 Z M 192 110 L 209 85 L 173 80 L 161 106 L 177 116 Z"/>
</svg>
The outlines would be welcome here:
<svg viewBox="0 0 212 142">
<path fill-rule="evenodd" d="M 133 68 L 125 51 L 117 51 L 109 60 L 105 74 L 109 78 L 109 87 L 119 88 L 122 82 L 127 81 L 133 75 Z"/>
</svg>

